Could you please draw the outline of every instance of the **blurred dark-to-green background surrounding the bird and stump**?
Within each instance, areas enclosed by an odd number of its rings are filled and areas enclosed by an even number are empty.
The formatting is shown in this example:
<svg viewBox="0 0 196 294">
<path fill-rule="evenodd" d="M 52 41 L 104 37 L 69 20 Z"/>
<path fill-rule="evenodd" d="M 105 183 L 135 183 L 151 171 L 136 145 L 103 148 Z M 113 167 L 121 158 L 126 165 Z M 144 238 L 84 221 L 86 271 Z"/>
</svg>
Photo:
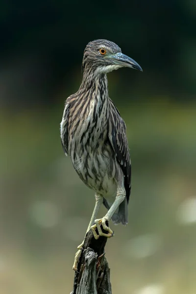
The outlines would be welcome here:
<svg viewBox="0 0 196 294">
<path fill-rule="evenodd" d="M 95 200 L 59 123 L 98 38 L 144 71 L 108 74 L 132 160 L 129 223 L 106 245 L 113 294 L 196 294 L 195 19 L 193 0 L 1 1 L 0 294 L 72 291 Z"/>
</svg>

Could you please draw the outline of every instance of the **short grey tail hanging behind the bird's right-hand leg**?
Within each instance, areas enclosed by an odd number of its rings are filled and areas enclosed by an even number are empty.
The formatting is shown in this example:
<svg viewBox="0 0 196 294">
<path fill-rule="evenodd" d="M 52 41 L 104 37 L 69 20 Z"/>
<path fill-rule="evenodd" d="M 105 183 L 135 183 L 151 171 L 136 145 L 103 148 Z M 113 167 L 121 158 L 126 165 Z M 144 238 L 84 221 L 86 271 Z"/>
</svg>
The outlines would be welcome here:
<svg viewBox="0 0 196 294">
<path fill-rule="evenodd" d="M 109 210 L 112 203 L 103 198 L 103 205 Z M 126 225 L 128 223 L 128 204 L 126 197 L 113 214 L 112 221 L 114 222 L 114 224 L 122 223 Z"/>
</svg>

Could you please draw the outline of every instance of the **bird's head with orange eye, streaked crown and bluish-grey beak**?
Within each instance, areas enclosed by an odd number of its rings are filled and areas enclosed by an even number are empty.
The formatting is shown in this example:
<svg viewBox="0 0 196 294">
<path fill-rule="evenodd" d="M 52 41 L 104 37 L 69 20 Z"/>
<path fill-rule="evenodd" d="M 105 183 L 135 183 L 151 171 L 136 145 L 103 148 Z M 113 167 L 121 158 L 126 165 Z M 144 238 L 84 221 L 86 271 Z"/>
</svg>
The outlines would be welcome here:
<svg viewBox="0 0 196 294">
<path fill-rule="evenodd" d="M 82 66 L 97 73 L 109 73 L 121 67 L 142 71 L 141 66 L 124 55 L 118 45 L 102 39 L 88 43 L 84 50 Z"/>
</svg>

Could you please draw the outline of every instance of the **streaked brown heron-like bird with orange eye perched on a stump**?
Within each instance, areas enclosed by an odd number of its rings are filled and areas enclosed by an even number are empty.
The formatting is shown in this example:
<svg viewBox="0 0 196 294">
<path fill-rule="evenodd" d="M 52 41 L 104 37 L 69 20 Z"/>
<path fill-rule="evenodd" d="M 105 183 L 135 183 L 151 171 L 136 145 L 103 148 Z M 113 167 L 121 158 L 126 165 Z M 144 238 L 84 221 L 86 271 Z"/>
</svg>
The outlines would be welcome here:
<svg viewBox="0 0 196 294">
<path fill-rule="evenodd" d="M 89 42 L 83 54 L 80 87 L 65 101 L 60 123 L 65 154 L 71 157 L 80 179 L 95 191 L 95 208 L 87 228 L 95 239 L 113 236 L 110 220 L 114 224 L 128 223 L 131 161 L 126 125 L 108 96 L 106 75 L 123 67 L 143 71 L 114 42 Z M 96 219 L 102 203 L 108 211 L 103 218 Z M 101 225 L 107 233 L 102 232 Z M 77 270 L 83 245 L 84 241 L 77 247 L 73 270 Z"/>
</svg>

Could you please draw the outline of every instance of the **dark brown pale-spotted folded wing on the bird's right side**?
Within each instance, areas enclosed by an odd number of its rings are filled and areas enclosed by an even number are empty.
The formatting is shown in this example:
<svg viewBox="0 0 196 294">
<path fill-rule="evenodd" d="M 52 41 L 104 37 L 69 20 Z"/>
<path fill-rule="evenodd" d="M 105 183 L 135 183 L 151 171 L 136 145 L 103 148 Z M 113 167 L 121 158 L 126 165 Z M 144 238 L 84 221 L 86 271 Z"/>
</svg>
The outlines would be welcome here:
<svg viewBox="0 0 196 294">
<path fill-rule="evenodd" d="M 108 137 L 123 171 L 124 188 L 128 203 L 131 192 L 131 160 L 126 137 L 126 126 L 112 100 L 109 102 L 109 107 L 111 116 L 109 119 Z"/>
</svg>

